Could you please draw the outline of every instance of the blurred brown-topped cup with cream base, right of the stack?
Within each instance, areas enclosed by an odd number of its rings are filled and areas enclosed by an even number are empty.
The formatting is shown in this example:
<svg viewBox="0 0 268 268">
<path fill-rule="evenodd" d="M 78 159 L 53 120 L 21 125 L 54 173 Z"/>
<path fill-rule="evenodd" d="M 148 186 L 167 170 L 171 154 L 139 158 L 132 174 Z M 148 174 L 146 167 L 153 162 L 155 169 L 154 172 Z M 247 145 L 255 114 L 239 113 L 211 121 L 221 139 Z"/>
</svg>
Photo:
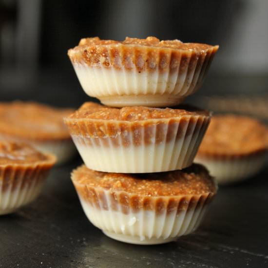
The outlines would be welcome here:
<svg viewBox="0 0 268 268">
<path fill-rule="evenodd" d="M 219 184 L 239 182 L 264 167 L 268 128 L 255 119 L 217 115 L 200 145 L 195 162 L 205 165 Z"/>
</svg>

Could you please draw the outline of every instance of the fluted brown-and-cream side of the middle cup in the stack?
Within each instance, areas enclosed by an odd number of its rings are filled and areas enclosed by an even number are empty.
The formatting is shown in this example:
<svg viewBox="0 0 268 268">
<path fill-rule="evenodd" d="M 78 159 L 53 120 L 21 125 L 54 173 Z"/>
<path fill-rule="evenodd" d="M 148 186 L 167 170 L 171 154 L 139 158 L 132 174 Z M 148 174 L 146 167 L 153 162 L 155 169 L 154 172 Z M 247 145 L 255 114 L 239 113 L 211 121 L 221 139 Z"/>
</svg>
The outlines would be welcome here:
<svg viewBox="0 0 268 268">
<path fill-rule="evenodd" d="M 113 122 L 114 129 L 118 130 L 120 124 L 124 124 L 124 131 L 118 131 L 114 136 L 75 135 L 71 129 L 70 132 L 90 169 L 122 173 L 164 172 L 192 164 L 209 122 L 209 117 L 189 116 L 187 120 L 156 120 L 150 126 L 133 127 L 129 123 L 126 127 L 126 123 Z M 77 120 L 75 127 L 85 133 L 88 124 L 85 120 Z M 91 133 L 100 132 L 97 124 L 90 127 Z M 102 122 L 102 130 L 104 127 Z"/>
</svg>

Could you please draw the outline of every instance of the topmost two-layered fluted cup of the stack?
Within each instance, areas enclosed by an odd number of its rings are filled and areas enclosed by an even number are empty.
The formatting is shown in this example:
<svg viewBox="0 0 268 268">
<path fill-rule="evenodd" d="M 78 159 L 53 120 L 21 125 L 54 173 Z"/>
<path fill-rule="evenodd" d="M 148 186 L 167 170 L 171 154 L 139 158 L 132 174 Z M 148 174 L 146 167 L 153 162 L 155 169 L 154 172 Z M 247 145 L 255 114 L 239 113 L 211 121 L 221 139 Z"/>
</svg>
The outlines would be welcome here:
<svg viewBox="0 0 268 268">
<path fill-rule="evenodd" d="M 83 38 L 68 51 L 83 90 L 112 107 L 171 107 L 202 84 L 218 46 Z"/>
</svg>

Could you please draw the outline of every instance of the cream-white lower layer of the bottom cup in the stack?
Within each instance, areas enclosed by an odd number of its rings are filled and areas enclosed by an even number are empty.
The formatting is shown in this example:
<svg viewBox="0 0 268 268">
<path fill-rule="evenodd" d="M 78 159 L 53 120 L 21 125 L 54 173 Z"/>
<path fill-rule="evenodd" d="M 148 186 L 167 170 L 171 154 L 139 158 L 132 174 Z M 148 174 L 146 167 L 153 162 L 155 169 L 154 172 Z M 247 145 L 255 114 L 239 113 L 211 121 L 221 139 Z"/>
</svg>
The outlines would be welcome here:
<svg viewBox="0 0 268 268">
<path fill-rule="evenodd" d="M 108 196 L 108 195 L 107 195 Z M 109 200 L 109 198 L 107 199 Z M 157 214 L 156 211 L 113 211 L 93 207 L 80 197 L 82 208 L 93 225 L 107 236 L 126 243 L 153 245 L 176 240 L 193 232 L 200 224 L 207 205 L 191 210 L 171 211 Z"/>
</svg>

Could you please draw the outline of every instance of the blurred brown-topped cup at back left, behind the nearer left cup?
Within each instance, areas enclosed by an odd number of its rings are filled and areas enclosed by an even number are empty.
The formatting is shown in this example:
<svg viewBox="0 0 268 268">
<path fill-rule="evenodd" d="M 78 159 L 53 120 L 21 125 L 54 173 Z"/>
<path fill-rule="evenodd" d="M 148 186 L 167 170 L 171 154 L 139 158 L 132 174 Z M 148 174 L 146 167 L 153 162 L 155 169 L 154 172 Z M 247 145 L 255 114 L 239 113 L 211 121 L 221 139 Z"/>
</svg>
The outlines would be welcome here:
<svg viewBox="0 0 268 268">
<path fill-rule="evenodd" d="M 0 103 L 0 139 L 30 143 L 43 153 L 57 156 L 57 164 L 75 153 L 63 116 L 73 109 L 56 109 L 34 102 Z"/>
</svg>

